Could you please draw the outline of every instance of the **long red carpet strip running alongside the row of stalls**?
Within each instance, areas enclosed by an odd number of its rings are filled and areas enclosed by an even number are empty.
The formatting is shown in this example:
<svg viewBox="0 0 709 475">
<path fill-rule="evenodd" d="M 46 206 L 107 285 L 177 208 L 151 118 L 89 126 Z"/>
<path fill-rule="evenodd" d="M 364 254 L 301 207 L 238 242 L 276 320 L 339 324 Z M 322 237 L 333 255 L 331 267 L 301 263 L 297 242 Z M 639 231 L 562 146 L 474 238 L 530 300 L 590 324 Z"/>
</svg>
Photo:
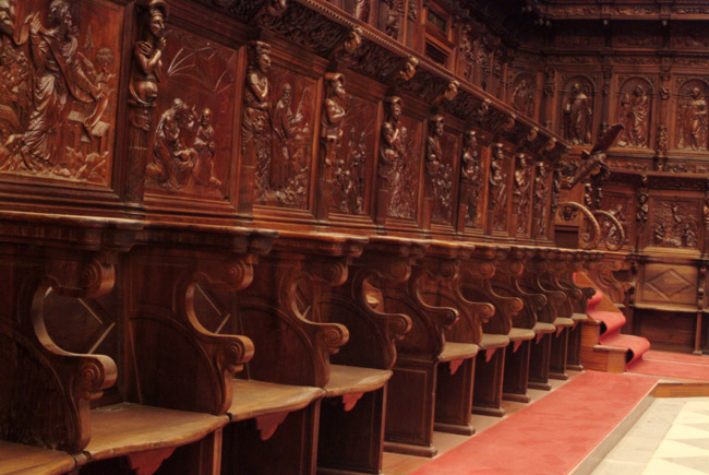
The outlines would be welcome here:
<svg viewBox="0 0 709 475">
<path fill-rule="evenodd" d="M 414 474 L 567 474 L 657 381 L 586 371 Z"/>
</svg>

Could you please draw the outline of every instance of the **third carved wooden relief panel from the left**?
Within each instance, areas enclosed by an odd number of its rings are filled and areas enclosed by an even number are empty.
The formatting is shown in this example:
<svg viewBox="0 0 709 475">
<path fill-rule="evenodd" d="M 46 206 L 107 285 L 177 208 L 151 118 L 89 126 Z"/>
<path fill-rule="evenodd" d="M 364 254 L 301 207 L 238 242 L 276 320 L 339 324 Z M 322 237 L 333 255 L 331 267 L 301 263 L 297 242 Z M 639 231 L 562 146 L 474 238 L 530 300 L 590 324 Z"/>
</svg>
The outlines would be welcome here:
<svg viewBox="0 0 709 475">
<path fill-rule="evenodd" d="M 242 142 L 244 153 L 256 158 L 256 203 L 307 209 L 313 156 L 315 80 L 277 64 L 268 70 L 267 100 L 245 111 L 253 115 L 259 130 L 244 136 Z M 244 122 L 247 119 L 251 118 L 244 118 Z M 243 127 L 245 129 L 247 123 Z"/>
</svg>

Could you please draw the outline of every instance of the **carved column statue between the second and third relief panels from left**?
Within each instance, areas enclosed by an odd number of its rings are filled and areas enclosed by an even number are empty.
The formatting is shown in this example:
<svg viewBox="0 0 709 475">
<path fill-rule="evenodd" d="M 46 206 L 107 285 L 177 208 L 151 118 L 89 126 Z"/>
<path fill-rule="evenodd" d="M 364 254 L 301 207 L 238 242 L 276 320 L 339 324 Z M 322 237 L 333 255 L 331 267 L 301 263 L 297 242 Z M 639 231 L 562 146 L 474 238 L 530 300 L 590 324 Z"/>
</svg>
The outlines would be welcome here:
<svg viewBox="0 0 709 475">
<path fill-rule="evenodd" d="M 243 122 L 241 140 L 243 161 L 255 166 L 260 156 L 260 141 L 271 123 L 271 96 L 268 71 L 271 70 L 271 46 L 263 41 L 249 44 L 249 66 L 247 68 L 247 86 L 243 93 Z M 263 153 L 263 151 L 261 151 Z"/>
</svg>

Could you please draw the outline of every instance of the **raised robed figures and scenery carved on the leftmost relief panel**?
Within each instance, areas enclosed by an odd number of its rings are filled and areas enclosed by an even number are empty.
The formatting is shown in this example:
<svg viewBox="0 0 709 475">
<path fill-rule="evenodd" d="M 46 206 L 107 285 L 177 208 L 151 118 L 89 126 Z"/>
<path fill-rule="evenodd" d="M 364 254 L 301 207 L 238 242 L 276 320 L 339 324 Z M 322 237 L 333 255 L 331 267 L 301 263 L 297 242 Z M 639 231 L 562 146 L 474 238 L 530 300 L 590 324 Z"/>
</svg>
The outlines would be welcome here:
<svg viewBox="0 0 709 475">
<path fill-rule="evenodd" d="M 5 34 L 14 13 L 12 2 L 3 7 Z M 108 82 L 115 78 L 107 73 L 112 52 L 99 50 L 97 60 L 104 60 L 106 68 L 99 78 L 94 63 L 79 50 L 77 28 L 65 0 L 49 4 L 46 27 L 39 12 L 25 19 L 16 45 L 24 46 L 27 40 L 32 71 L 24 51 L 10 43 L 3 45 L 2 88 L 9 94 L 2 94 L 1 102 L 13 110 L 15 133 L 0 151 L 0 170 L 71 179 L 91 176 L 92 181 L 105 182 L 109 151 L 107 143 L 96 138 L 105 136 L 109 128 L 100 119 L 108 108 Z M 8 68 L 10 61 L 14 64 Z M 73 149 L 67 144 L 70 131 L 80 136 Z"/>
</svg>

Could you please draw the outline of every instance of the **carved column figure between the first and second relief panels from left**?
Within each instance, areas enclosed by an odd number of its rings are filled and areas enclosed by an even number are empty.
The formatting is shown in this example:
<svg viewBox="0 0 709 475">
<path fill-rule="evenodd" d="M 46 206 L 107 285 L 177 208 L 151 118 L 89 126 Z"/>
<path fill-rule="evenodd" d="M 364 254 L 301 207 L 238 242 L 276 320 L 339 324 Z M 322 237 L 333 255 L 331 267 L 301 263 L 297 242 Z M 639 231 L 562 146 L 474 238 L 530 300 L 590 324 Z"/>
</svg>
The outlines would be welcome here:
<svg viewBox="0 0 709 475">
<path fill-rule="evenodd" d="M 144 23 L 145 31 L 140 41 L 133 46 L 135 68 L 130 83 L 131 103 L 139 107 L 155 107 L 158 83 L 163 81 L 163 52 L 167 45 L 165 39 L 165 20 L 167 3 L 163 0 L 151 1 L 149 21 Z M 133 120 L 133 124 L 149 130 L 145 115 Z"/>
</svg>

